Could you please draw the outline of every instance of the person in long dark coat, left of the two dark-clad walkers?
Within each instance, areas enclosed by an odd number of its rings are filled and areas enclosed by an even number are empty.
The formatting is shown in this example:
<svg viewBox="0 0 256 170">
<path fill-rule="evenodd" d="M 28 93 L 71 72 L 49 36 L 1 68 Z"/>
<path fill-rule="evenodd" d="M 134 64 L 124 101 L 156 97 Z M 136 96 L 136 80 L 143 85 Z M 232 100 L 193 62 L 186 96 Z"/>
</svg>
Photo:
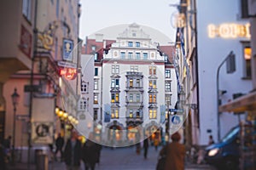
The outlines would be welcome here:
<svg viewBox="0 0 256 170">
<path fill-rule="evenodd" d="M 71 138 L 67 140 L 64 150 L 64 161 L 66 163 L 67 170 L 79 170 L 81 149 L 82 144 L 78 139 L 78 133 L 73 130 L 71 132 Z"/>
</svg>

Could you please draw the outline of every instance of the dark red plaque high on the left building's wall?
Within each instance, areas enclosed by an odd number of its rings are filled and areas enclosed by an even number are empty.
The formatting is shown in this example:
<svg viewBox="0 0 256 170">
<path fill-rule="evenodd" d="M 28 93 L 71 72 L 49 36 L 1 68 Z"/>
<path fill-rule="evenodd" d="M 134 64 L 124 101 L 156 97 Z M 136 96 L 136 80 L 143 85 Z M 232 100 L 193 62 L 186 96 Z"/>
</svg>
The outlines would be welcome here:
<svg viewBox="0 0 256 170">
<path fill-rule="evenodd" d="M 20 33 L 20 51 L 26 54 L 27 57 L 31 58 L 32 34 L 26 29 L 25 26 L 22 25 Z"/>
</svg>

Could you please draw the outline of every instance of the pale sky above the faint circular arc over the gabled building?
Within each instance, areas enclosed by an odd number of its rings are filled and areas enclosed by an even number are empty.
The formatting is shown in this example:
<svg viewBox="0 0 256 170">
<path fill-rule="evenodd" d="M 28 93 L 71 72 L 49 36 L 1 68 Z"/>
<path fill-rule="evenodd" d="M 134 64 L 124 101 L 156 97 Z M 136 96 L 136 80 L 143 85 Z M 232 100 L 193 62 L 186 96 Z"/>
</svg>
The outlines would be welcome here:
<svg viewBox="0 0 256 170">
<path fill-rule="evenodd" d="M 149 26 L 175 41 L 171 24 L 178 0 L 80 0 L 82 13 L 79 37 L 94 34 L 108 26 L 137 23 Z"/>
</svg>

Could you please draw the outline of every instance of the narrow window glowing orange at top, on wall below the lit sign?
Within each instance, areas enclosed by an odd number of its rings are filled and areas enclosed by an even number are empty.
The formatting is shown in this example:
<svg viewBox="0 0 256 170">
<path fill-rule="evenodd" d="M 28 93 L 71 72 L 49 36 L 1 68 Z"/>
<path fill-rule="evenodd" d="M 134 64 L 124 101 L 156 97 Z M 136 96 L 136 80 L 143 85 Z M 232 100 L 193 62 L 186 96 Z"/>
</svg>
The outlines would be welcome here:
<svg viewBox="0 0 256 170">
<path fill-rule="evenodd" d="M 245 59 L 245 77 L 251 78 L 252 77 L 252 66 L 251 66 L 251 59 L 252 59 L 252 48 L 249 46 L 245 46 L 243 48 L 243 56 Z"/>
</svg>

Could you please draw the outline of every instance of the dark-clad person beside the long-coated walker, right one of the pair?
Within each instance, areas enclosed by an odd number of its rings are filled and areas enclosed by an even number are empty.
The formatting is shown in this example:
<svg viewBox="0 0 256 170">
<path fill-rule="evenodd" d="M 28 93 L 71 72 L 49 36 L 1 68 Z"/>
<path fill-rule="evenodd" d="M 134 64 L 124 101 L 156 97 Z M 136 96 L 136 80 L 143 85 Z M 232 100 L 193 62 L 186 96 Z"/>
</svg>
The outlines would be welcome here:
<svg viewBox="0 0 256 170">
<path fill-rule="evenodd" d="M 87 139 L 82 149 L 82 160 L 84 161 L 85 170 L 94 170 L 96 162 L 99 161 L 100 147 Z"/>
</svg>

